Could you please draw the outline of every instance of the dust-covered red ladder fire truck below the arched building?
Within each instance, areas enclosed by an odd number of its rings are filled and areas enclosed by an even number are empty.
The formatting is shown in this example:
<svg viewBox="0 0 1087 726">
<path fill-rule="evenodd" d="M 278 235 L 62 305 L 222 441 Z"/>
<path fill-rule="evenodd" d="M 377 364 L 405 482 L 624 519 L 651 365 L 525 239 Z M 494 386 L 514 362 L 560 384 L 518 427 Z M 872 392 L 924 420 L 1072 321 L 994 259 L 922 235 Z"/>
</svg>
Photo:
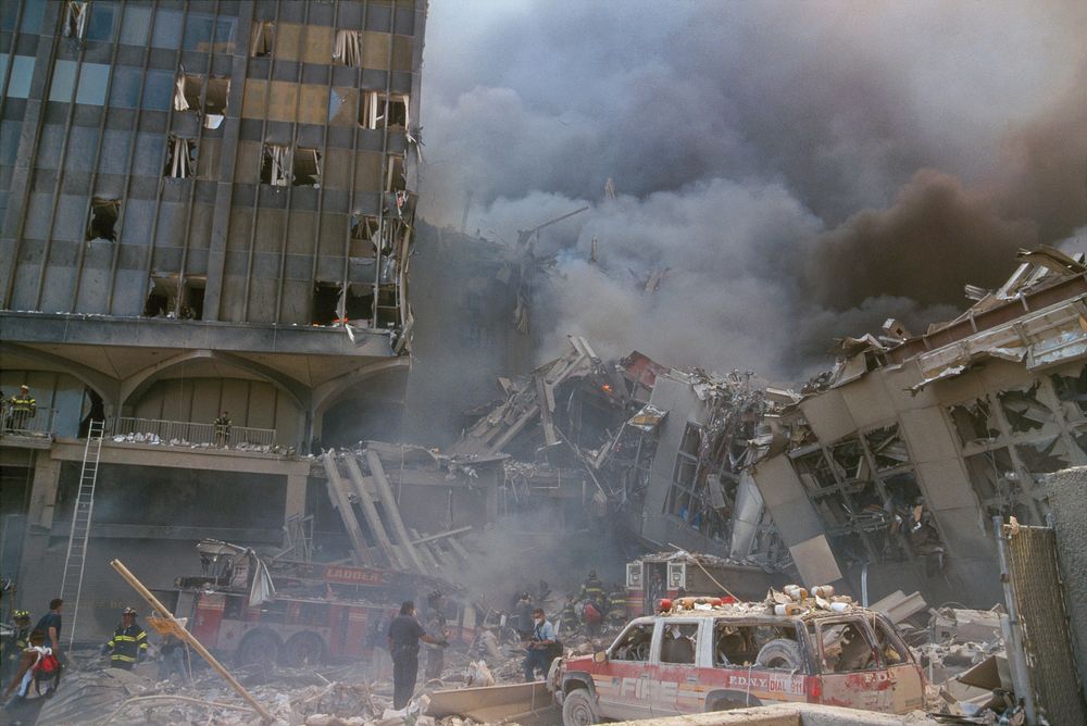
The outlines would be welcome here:
<svg viewBox="0 0 1087 726">
<path fill-rule="evenodd" d="M 475 610 L 455 588 L 411 573 L 309 562 L 265 562 L 250 548 L 202 540 L 202 572 L 178 577 L 174 614 L 205 648 L 241 665 L 302 666 L 360 660 L 384 646 L 400 602 L 420 612 L 429 592 L 446 596 L 451 639 L 475 635 Z"/>
</svg>

